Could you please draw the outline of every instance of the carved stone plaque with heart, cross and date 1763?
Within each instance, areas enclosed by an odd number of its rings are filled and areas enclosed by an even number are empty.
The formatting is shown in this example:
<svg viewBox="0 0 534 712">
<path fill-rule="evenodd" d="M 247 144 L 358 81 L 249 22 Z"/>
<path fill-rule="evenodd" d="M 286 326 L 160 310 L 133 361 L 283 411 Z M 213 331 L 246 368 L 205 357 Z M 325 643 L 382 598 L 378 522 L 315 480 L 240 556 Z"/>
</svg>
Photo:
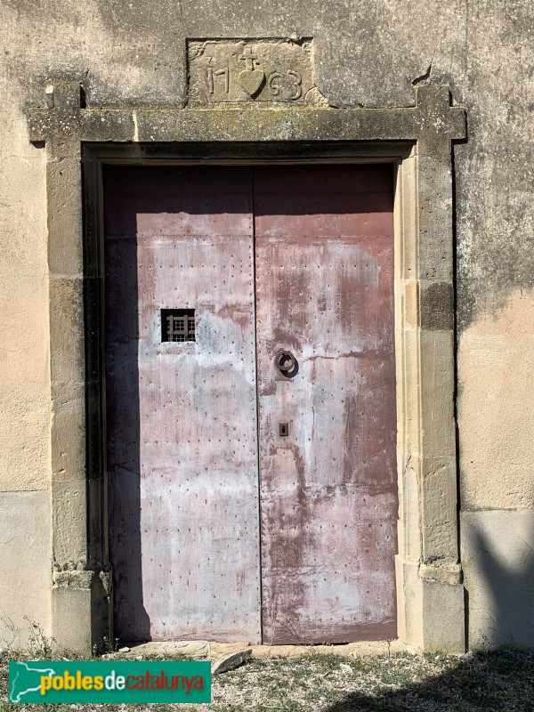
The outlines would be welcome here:
<svg viewBox="0 0 534 712">
<path fill-rule="evenodd" d="M 326 103 L 312 39 L 188 40 L 189 104 Z"/>
</svg>

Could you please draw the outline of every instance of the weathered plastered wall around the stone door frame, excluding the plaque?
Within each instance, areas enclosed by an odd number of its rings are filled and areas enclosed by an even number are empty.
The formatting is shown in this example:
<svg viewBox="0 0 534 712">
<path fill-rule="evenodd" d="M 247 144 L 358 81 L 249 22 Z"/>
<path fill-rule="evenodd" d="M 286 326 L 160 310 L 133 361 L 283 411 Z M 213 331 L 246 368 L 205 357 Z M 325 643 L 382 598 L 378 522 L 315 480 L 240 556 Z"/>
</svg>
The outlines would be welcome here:
<svg viewBox="0 0 534 712">
<path fill-rule="evenodd" d="M 28 621 L 51 630 L 45 157 L 28 142 L 26 109 L 61 79 L 82 83 L 89 107 L 182 106 L 186 38 L 224 36 L 313 37 L 316 83 L 331 106 L 409 106 L 414 85 L 430 82 L 450 85 L 467 109 L 454 166 L 469 644 L 534 643 L 533 15 L 530 0 L 4 0 L 0 646 L 11 627 L 28 642 Z"/>
</svg>

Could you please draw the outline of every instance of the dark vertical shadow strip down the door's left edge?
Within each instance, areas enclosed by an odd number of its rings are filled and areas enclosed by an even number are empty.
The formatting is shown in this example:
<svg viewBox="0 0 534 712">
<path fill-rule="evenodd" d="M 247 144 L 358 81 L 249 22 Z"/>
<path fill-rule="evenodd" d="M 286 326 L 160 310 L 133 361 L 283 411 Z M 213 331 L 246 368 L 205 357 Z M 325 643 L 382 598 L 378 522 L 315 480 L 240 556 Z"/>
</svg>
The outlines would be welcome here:
<svg viewBox="0 0 534 712">
<path fill-rule="evenodd" d="M 110 376 L 105 392 L 106 459 L 109 538 L 114 542 L 110 552 L 113 617 L 115 635 L 120 637 L 124 631 L 134 630 L 132 637 L 148 640 L 150 619 L 142 592 L 136 225 L 134 211 L 125 209 L 126 197 L 116 178 L 112 168 L 104 171 L 104 270 L 108 285 L 104 295 L 104 344 L 106 372 Z M 117 215 L 123 225 L 128 223 L 123 231 L 117 230 Z M 127 604 L 121 600 L 120 592 L 125 590 L 130 592 Z"/>
</svg>

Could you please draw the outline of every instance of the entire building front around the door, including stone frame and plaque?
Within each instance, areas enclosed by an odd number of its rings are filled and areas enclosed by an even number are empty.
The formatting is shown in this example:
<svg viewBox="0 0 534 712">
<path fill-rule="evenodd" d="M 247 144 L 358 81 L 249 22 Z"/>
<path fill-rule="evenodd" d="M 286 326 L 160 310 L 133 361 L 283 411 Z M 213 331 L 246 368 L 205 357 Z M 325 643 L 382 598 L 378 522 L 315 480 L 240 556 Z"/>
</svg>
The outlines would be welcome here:
<svg viewBox="0 0 534 712">
<path fill-rule="evenodd" d="M 533 644 L 530 2 L 0 12 L 0 646 L 110 631 L 102 166 L 210 161 L 392 166 L 397 635 Z"/>
</svg>

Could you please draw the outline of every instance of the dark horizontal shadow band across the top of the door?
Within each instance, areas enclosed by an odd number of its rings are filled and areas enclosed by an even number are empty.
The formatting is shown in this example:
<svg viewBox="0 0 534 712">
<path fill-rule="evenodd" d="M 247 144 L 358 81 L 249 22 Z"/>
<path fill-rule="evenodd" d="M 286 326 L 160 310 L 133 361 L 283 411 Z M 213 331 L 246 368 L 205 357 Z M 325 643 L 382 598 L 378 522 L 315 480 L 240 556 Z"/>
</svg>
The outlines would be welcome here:
<svg viewBox="0 0 534 712">
<path fill-rule="evenodd" d="M 262 182 L 263 200 L 256 215 L 354 214 L 392 210 L 392 166 L 106 166 L 113 210 L 106 211 L 107 230 L 135 234 L 135 214 L 246 213 L 241 187 L 250 173 Z M 219 178 L 223 176 L 223 180 Z M 182 191 L 183 182 L 189 190 Z M 198 185 L 198 190 L 190 190 Z M 276 186 L 269 200 L 269 184 Z M 287 195 L 287 204 L 280 195 Z M 109 201 L 108 201 L 109 202 Z M 135 209 L 131 209 L 134 206 Z M 126 209 L 130 208 L 130 209 Z M 284 209 L 286 208 L 286 210 Z"/>
</svg>

